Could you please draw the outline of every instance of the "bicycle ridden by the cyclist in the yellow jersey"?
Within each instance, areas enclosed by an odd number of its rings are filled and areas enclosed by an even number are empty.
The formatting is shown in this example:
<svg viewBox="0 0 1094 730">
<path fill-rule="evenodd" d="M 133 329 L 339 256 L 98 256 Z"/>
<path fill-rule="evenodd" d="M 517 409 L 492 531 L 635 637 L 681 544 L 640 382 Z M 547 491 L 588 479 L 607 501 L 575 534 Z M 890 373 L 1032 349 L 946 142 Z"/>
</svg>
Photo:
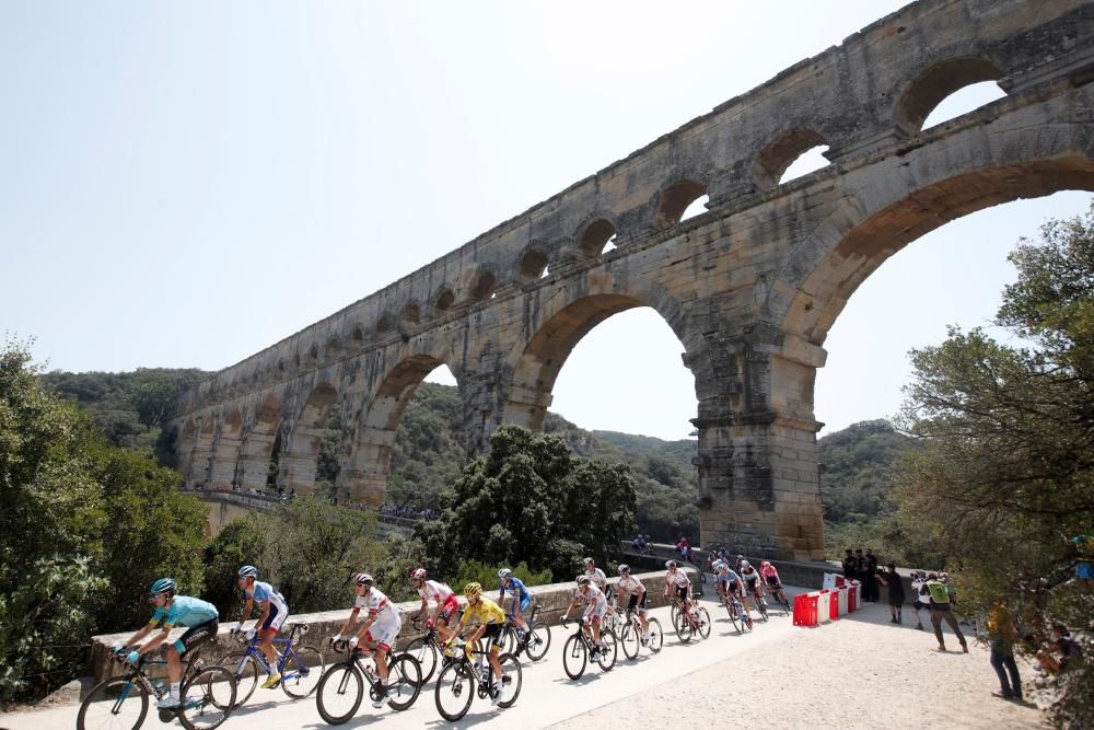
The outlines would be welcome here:
<svg viewBox="0 0 1094 730">
<path fill-rule="evenodd" d="M 437 711 L 450 722 L 455 722 L 467 714 L 476 694 L 480 699 L 493 696 L 494 679 L 490 662 L 485 659 L 480 659 L 478 663 L 472 661 L 474 654 L 488 656 L 489 648 L 484 651 L 478 648 L 466 650 L 465 647 L 466 645 L 462 642 L 453 642 L 445 647 L 444 656 L 449 658 L 450 663 L 441 670 L 441 675 L 437 677 L 437 687 L 433 690 Z M 524 681 L 521 662 L 515 654 L 509 652 L 498 657 L 498 661 L 501 663 L 502 673 L 498 707 L 512 707 L 521 694 Z"/>
</svg>

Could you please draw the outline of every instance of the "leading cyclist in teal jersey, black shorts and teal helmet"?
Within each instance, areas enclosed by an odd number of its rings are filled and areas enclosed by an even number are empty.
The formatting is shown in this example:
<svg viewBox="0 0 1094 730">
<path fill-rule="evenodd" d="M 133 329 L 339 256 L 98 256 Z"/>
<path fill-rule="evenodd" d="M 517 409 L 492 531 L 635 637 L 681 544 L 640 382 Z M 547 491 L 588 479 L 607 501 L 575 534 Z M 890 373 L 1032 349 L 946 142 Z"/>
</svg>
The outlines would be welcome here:
<svg viewBox="0 0 1094 730">
<path fill-rule="evenodd" d="M 167 680 L 171 690 L 166 697 L 156 703 L 156 707 L 178 707 L 178 685 L 183 676 L 183 665 L 179 659 L 196 646 L 217 638 L 220 612 L 217 606 L 189 595 L 175 595 L 177 586 L 174 578 L 161 578 L 149 589 L 149 601 L 155 605 L 149 623 L 129 637 L 125 644 L 114 647 L 114 653 L 120 654 L 130 649 L 126 660 L 136 664 L 140 658 L 156 649 L 167 639 L 175 626 L 185 626 L 186 633 L 167 645 Z M 160 629 L 146 645 L 139 646 L 141 639 Z"/>
</svg>

